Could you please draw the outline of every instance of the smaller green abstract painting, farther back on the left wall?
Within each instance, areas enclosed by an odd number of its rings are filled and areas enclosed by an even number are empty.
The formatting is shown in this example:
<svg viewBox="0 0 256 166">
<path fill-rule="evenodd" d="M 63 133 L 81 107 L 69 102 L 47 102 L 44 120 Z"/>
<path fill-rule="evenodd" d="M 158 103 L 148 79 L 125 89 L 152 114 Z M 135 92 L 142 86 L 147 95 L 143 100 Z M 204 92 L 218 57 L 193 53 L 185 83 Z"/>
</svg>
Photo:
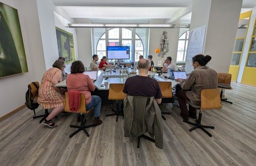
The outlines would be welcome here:
<svg viewBox="0 0 256 166">
<path fill-rule="evenodd" d="M 56 36 L 59 57 L 64 57 L 66 63 L 74 62 L 75 50 L 73 34 L 56 27 Z"/>
</svg>

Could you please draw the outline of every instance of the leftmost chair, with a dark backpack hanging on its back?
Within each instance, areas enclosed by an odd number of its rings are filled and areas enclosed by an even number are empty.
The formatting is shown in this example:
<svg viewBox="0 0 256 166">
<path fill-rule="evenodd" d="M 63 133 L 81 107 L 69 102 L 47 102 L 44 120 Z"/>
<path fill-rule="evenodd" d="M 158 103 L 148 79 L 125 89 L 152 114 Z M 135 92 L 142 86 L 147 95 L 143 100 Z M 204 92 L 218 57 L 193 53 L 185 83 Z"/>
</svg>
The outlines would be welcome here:
<svg viewBox="0 0 256 166">
<path fill-rule="evenodd" d="M 39 83 L 36 82 L 31 82 L 28 85 L 28 94 L 26 94 L 26 105 L 29 109 L 34 111 L 34 116 L 33 119 L 35 118 L 41 118 L 40 123 L 44 120 L 45 117 L 48 116 L 48 109 L 45 109 L 45 114 L 44 115 L 36 115 L 35 109 L 37 109 L 37 107 L 39 106 L 39 104 L 37 103 L 37 97 L 38 97 L 38 89 L 39 89 Z M 27 99 L 28 96 L 28 99 Z M 47 116 L 46 116 L 47 115 Z"/>
</svg>

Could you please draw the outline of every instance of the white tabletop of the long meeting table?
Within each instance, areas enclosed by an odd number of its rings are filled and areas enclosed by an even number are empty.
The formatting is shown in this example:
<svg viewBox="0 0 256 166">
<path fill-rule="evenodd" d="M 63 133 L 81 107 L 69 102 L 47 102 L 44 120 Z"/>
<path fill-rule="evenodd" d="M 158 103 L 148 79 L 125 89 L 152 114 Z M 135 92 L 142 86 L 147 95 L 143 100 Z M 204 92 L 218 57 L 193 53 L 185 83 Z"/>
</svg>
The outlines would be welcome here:
<svg viewBox="0 0 256 166">
<path fill-rule="evenodd" d="M 96 88 L 98 90 L 108 90 L 109 89 L 109 84 L 114 84 L 114 83 L 124 84 L 127 78 L 138 74 L 138 70 L 137 70 L 136 74 L 120 75 L 120 70 L 122 70 L 122 69 L 116 69 L 116 72 L 113 72 L 112 70 L 111 70 L 111 72 L 98 71 L 98 78 L 94 82 L 94 85 L 96 86 Z M 128 69 L 128 72 L 131 72 L 131 71 L 133 71 L 133 69 Z M 177 82 L 177 81 L 164 78 L 164 76 L 166 76 L 166 75 L 167 75 L 167 73 L 163 73 L 163 76 L 158 76 L 158 74 L 155 73 L 155 72 L 148 72 L 148 76 L 156 79 L 157 81 L 170 81 L 170 82 L 172 82 L 172 87 L 175 87 L 177 84 L 179 84 L 179 82 Z M 56 87 L 66 87 L 67 86 L 66 85 L 66 80 L 63 80 L 63 81 L 59 82 L 59 84 L 56 84 L 55 86 Z"/>
</svg>

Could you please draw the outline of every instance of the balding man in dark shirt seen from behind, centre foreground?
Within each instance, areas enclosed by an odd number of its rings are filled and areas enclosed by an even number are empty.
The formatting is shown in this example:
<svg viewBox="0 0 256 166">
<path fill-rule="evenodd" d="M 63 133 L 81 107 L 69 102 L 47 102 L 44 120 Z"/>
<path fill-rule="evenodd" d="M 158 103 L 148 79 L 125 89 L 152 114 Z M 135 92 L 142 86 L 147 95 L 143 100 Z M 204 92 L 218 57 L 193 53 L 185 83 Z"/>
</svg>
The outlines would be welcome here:
<svg viewBox="0 0 256 166">
<path fill-rule="evenodd" d="M 150 61 L 147 59 L 139 60 L 139 75 L 126 79 L 123 93 L 126 98 L 130 96 L 154 97 L 158 104 L 162 101 L 162 93 L 157 80 L 148 77 L 148 69 L 150 69 Z M 139 84 L 136 84 L 139 82 Z"/>
</svg>

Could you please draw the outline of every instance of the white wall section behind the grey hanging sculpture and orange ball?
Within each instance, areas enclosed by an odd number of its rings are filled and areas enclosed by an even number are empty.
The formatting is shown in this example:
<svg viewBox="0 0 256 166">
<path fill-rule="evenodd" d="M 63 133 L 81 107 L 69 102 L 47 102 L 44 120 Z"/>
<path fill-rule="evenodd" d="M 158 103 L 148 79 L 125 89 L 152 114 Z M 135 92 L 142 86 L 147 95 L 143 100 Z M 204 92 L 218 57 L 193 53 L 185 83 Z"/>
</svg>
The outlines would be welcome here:
<svg viewBox="0 0 256 166">
<path fill-rule="evenodd" d="M 152 24 L 162 24 L 163 22 L 151 21 Z M 179 27 L 179 21 L 176 23 L 177 27 Z M 154 52 L 156 48 L 160 48 L 160 42 L 162 40 L 163 31 L 167 31 L 168 42 L 169 42 L 169 51 L 164 57 L 158 57 L 158 54 Z M 177 49 L 178 49 L 178 40 L 179 40 L 179 28 L 151 28 L 149 29 L 149 46 L 148 46 L 148 54 L 153 55 L 154 65 L 157 65 L 158 60 L 165 60 L 166 57 L 172 57 L 172 62 L 176 63 L 177 58 Z M 144 58 L 146 58 L 144 56 Z"/>
</svg>

